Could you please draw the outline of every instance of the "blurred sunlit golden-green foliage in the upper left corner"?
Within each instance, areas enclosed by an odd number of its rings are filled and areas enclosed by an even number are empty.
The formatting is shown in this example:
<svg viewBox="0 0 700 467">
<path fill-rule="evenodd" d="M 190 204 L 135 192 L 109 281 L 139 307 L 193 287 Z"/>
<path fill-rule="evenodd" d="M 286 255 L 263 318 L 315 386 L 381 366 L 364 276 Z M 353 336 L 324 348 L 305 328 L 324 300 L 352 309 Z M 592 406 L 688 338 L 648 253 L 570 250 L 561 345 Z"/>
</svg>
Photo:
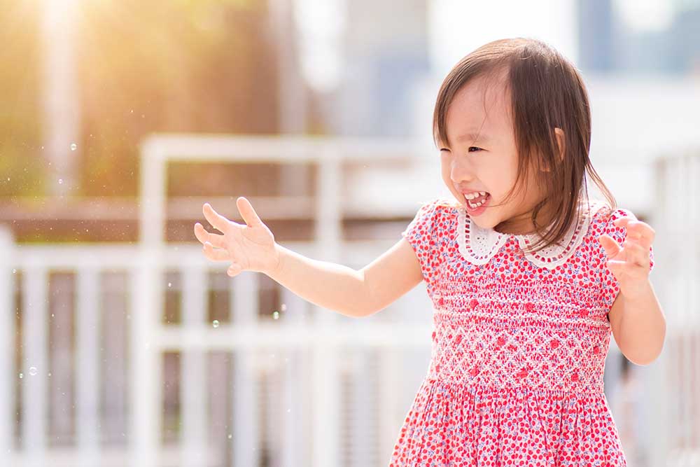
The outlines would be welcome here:
<svg viewBox="0 0 700 467">
<path fill-rule="evenodd" d="M 41 8 L 0 0 L 0 195 L 41 195 Z M 75 195 L 135 196 L 152 132 L 276 130 L 276 68 L 262 0 L 91 0 L 74 25 L 81 136 Z M 2 181 L 0 177 L 0 182 Z"/>
</svg>

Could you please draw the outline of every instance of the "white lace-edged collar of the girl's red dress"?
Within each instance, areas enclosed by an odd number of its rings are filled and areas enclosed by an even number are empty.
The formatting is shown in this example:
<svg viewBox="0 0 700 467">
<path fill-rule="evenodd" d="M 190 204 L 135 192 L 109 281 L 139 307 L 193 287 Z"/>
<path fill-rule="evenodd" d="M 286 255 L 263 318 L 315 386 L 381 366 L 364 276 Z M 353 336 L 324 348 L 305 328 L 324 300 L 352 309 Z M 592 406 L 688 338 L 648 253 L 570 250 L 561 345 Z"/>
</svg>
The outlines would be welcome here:
<svg viewBox="0 0 700 467">
<path fill-rule="evenodd" d="M 517 239 L 517 242 L 524 253 L 534 265 L 538 267 L 547 267 L 554 269 L 570 258 L 576 251 L 577 247 L 583 242 L 583 239 L 588 232 L 588 227 L 591 223 L 592 214 L 594 214 L 601 204 L 598 200 L 591 200 L 591 209 L 588 209 L 587 204 L 581 204 L 582 221 L 569 228 L 566 236 L 561 241 L 561 245 L 550 245 L 535 253 L 526 253 L 526 247 L 535 244 L 539 236 L 536 233 L 531 235 L 515 235 L 498 232 L 492 228 L 481 228 L 474 223 L 471 217 L 466 218 L 466 209 L 463 206 L 458 207 L 458 232 L 457 242 L 459 252 L 465 260 L 475 265 L 483 265 L 489 262 L 493 256 L 498 253 L 500 248 L 508 241 L 510 237 Z"/>
</svg>

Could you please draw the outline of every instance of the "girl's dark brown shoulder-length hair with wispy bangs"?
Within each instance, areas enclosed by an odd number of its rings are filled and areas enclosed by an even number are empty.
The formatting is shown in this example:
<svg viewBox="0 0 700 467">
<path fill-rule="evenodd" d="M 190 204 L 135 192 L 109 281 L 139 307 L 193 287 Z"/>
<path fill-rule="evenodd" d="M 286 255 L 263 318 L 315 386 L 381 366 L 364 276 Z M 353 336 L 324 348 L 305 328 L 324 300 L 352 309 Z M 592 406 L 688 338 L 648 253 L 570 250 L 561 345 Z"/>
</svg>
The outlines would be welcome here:
<svg viewBox="0 0 700 467">
<path fill-rule="evenodd" d="M 615 197 L 605 186 L 589 160 L 591 111 L 583 80 L 572 63 L 551 46 L 536 39 L 501 39 L 485 44 L 460 60 L 449 72 L 437 94 L 433 113 L 433 138 L 447 141 L 445 118 L 454 95 L 474 78 L 505 76 L 510 90 L 510 109 L 518 151 L 518 175 L 506 199 L 510 199 L 521 179 L 535 173 L 545 197 L 533 208 L 531 220 L 540 237 L 531 251 L 559 244 L 573 223 L 580 219 L 580 203 L 590 207 L 586 172 L 609 202 L 617 209 Z M 493 83 L 495 80 L 487 79 Z M 561 158 L 554 128 L 564 133 Z M 540 169 L 547 167 L 547 172 Z M 544 225 L 535 219 L 548 207 L 556 213 Z M 546 226 L 552 224 L 550 230 Z M 508 221 L 496 226 L 503 228 Z"/>
</svg>

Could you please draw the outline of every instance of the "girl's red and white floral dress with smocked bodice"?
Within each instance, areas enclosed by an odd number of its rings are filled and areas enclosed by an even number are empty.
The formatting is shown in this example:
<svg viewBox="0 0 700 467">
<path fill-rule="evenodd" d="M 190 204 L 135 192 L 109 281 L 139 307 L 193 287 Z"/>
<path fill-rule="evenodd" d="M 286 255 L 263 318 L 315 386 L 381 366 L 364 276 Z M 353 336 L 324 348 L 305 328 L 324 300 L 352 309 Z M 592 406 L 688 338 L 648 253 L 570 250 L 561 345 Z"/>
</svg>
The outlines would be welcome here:
<svg viewBox="0 0 700 467">
<path fill-rule="evenodd" d="M 445 199 L 421 206 L 402 236 L 433 344 L 390 467 L 626 466 L 603 393 L 619 284 L 598 236 L 622 245 L 612 221 L 633 214 L 594 200 L 582 212 L 560 245 L 524 254 L 534 237 L 479 228 Z"/>
</svg>

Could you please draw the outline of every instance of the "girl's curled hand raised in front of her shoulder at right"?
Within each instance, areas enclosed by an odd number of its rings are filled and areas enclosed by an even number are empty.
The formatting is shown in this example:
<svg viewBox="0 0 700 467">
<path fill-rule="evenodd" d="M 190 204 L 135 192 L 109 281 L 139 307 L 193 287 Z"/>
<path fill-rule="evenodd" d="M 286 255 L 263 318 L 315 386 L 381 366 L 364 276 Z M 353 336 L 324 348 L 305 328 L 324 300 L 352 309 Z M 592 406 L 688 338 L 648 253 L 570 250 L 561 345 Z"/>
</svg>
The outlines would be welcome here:
<svg viewBox="0 0 700 467">
<path fill-rule="evenodd" d="M 600 235 L 598 241 L 608 255 L 608 269 L 619 282 L 620 292 L 634 296 L 647 285 L 650 272 L 649 251 L 656 232 L 647 223 L 629 216 L 617 218 L 612 223 L 626 228 L 622 247 L 610 235 Z"/>
</svg>

